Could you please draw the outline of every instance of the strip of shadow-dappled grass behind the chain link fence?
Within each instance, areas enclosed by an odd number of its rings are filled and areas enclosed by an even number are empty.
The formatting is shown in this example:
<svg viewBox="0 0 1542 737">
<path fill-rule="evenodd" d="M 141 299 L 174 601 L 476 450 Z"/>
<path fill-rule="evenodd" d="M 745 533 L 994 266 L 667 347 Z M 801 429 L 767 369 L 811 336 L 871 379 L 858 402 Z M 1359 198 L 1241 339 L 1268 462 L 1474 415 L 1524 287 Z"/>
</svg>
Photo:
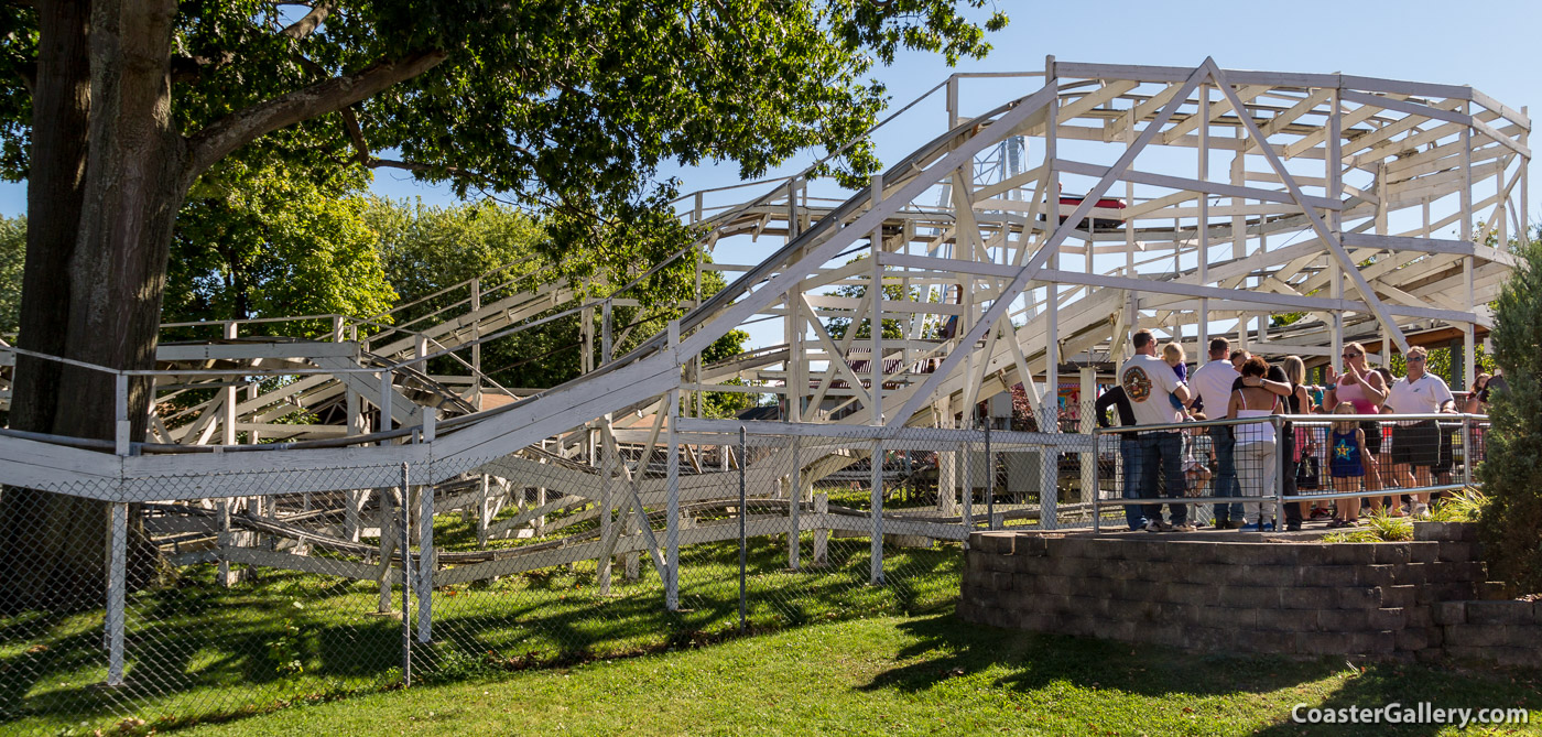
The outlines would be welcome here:
<svg viewBox="0 0 1542 737">
<path fill-rule="evenodd" d="M 913 614 L 958 595 L 956 547 L 893 550 L 894 569 L 905 574 L 873 587 L 867 540 L 831 540 L 830 564 L 800 572 L 785 570 L 780 540 L 756 538 L 748 550 L 749 634 Z M 811 554 L 811 537 L 803 543 Z M 737 637 L 737 543 L 682 554 L 680 612 L 665 611 L 663 584 L 646 563 L 635 581 L 617 566 L 606 597 L 592 561 L 436 589 L 433 643 L 415 641 L 415 675 L 450 681 Z M 111 689 L 100 686 L 100 611 L 0 620 L 0 731 L 89 732 L 123 717 L 165 731 L 390 688 L 399 675 L 402 623 L 375 615 L 378 598 L 373 581 L 264 570 L 225 589 L 211 566 L 187 569 L 177 584 L 131 597 L 126 685 Z M 301 669 L 287 671 L 288 661 Z"/>
</svg>

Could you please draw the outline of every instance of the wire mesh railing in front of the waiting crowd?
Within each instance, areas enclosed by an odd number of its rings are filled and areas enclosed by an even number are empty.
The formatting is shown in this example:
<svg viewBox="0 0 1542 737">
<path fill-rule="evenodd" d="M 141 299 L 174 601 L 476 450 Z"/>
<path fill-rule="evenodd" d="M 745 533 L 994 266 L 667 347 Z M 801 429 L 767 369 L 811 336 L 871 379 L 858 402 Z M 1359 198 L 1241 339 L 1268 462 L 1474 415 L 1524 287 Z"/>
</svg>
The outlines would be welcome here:
<svg viewBox="0 0 1542 737">
<path fill-rule="evenodd" d="M 1095 527 L 1300 529 L 1366 510 L 1425 515 L 1433 493 L 1473 486 L 1482 415 L 1269 415 L 1098 429 Z M 1406 503 L 1405 503 L 1406 498 Z M 1166 509 L 1163 509 L 1166 507 Z M 1118 510 L 1118 515 L 1106 513 Z"/>
</svg>

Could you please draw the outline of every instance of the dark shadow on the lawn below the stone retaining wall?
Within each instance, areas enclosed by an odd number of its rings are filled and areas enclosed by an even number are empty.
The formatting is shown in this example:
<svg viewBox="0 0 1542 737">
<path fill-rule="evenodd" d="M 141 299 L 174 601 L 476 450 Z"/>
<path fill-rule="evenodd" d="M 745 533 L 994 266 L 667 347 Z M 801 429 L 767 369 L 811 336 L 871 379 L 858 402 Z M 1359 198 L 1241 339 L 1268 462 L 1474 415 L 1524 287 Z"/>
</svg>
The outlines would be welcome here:
<svg viewBox="0 0 1542 737">
<path fill-rule="evenodd" d="M 993 686 L 1033 692 L 1056 683 L 1150 698 L 1274 694 L 1343 675 L 1343 685 L 1311 706 L 1380 708 L 1431 702 L 1442 708 L 1542 709 L 1542 671 L 1473 669 L 1412 663 L 1369 663 L 1352 672 L 1345 658 L 1295 660 L 1274 655 L 1203 654 L 1070 635 L 968 624 L 939 614 L 901 624 L 916 643 L 899 654 L 905 666 L 884 671 L 862 691 L 924 692 L 970 672 L 1002 669 Z M 919 658 L 919 660 L 917 660 Z M 1357 658 L 1359 660 L 1359 658 Z M 1291 697 L 1283 697 L 1291 702 Z M 1365 734 L 1368 725 L 1298 725 L 1291 703 L 1272 708 L 1258 734 Z M 1379 734 L 1429 735 L 1442 725 L 1374 725 Z"/>
</svg>

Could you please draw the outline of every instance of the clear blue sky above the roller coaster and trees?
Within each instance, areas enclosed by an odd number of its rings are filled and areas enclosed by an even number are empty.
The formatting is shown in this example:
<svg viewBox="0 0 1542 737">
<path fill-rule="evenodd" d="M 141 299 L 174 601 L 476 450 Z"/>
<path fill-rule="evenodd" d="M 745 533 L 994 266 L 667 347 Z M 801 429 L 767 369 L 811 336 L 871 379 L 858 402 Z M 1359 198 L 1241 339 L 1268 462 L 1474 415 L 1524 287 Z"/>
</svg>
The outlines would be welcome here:
<svg viewBox="0 0 1542 737">
<path fill-rule="evenodd" d="M 1342 71 L 1473 85 L 1513 108 L 1542 103 L 1537 54 L 1530 43 L 1542 22 L 1542 3 L 1104 0 L 999 6 L 1012 15 L 1012 23 L 992 35 L 996 49 L 984 60 L 961 63 L 958 71 L 1042 69 L 1045 54 L 1073 62 L 1177 66 L 1194 66 L 1210 56 L 1232 69 Z M 874 76 L 888 85 L 894 105 L 902 105 L 950 71 L 938 56 L 905 54 L 894 66 L 874 69 Z M 1016 88 L 998 85 L 992 103 L 1036 86 L 1036 80 L 1022 80 Z M 936 100 L 927 113 L 907 119 L 905 128 L 921 139 L 934 134 L 941 123 Z M 880 139 L 885 159 L 908 151 L 907 131 Z M 810 160 L 800 157 L 780 171 L 796 171 Z M 666 173 L 680 176 L 685 191 L 737 182 L 731 163 Z M 421 185 L 393 171 L 378 173 L 373 190 L 392 197 L 452 202 L 446 188 Z M 1542 187 L 1531 191 L 1542 193 Z M 23 183 L 0 183 L 0 213 L 25 211 L 25 193 Z M 1533 217 L 1542 214 L 1534 200 L 1527 207 Z"/>
</svg>

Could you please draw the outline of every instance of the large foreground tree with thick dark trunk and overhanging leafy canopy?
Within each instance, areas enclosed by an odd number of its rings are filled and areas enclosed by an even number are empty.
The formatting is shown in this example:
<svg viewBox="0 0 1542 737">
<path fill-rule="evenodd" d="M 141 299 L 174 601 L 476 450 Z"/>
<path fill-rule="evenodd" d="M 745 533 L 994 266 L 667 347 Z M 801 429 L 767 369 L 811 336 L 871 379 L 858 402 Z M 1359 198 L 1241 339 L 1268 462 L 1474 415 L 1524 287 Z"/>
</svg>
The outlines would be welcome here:
<svg viewBox="0 0 1542 737">
<path fill-rule="evenodd" d="M 31 225 L 19 345 L 111 368 L 153 365 L 176 213 L 231 154 L 503 191 L 554 214 L 557 253 L 625 268 L 631 242 L 600 237 L 662 216 L 662 160 L 759 176 L 868 128 L 874 60 L 988 49 L 947 0 L 35 0 L 0 31 L 0 163 Z M 856 145 L 830 173 L 873 168 Z M 15 379 L 12 427 L 111 435 L 109 373 L 23 358 Z M 131 382 L 134 435 L 150 390 Z M 103 515 L 8 490 L 0 600 L 99 600 Z"/>
</svg>

